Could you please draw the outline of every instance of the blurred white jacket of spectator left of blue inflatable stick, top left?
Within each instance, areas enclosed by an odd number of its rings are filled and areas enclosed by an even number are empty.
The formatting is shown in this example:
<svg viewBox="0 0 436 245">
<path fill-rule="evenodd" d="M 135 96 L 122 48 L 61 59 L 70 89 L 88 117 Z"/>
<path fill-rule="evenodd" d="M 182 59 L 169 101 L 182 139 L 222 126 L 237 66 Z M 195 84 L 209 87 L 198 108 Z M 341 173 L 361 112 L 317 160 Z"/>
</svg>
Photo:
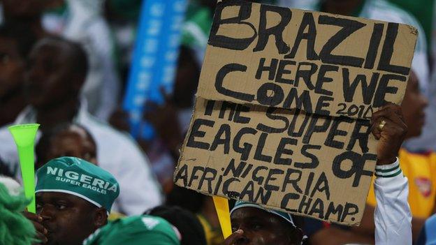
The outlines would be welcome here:
<svg viewBox="0 0 436 245">
<path fill-rule="evenodd" d="M 82 96 L 87 99 L 89 112 L 107 121 L 119 103 L 120 82 L 115 43 L 103 17 L 104 0 L 65 0 L 65 3 L 66 11 L 60 17 L 45 16 L 45 28 L 85 47 L 89 70 Z"/>
</svg>

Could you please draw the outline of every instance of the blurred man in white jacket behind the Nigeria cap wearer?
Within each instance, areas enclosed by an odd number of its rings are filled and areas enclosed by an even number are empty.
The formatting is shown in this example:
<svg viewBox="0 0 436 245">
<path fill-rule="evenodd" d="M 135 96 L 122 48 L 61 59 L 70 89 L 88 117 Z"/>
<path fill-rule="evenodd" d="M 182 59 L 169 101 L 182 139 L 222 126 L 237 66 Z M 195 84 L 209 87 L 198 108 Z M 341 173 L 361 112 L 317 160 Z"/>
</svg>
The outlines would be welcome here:
<svg viewBox="0 0 436 245">
<path fill-rule="evenodd" d="M 161 204 L 159 185 L 133 139 L 92 117 L 86 101 L 79 100 L 86 74 L 87 56 L 80 45 L 61 38 L 39 41 L 31 52 L 27 70 L 27 98 L 31 106 L 24 109 L 15 124 L 38 122 L 43 131 L 62 122 L 85 126 L 96 140 L 97 162 L 120 183 L 121 195 L 115 211 L 140 214 Z M 0 142 L 0 156 L 10 165 L 17 165 L 15 144 L 6 127 L 0 128 Z"/>
</svg>

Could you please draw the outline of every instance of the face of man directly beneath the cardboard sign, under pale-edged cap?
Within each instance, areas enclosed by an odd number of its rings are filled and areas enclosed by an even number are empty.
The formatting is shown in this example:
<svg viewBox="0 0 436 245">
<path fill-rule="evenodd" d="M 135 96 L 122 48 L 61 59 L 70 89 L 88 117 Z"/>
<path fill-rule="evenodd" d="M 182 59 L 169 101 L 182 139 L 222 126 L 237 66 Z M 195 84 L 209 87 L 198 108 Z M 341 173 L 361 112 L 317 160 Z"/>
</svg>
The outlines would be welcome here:
<svg viewBox="0 0 436 245">
<path fill-rule="evenodd" d="M 291 245 L 300 244 L 289 223 L 275 214 L 255 207 L 242 207 L 231 214 L 232 230 L 243 230 L 235 244 Z"/>
</svg>

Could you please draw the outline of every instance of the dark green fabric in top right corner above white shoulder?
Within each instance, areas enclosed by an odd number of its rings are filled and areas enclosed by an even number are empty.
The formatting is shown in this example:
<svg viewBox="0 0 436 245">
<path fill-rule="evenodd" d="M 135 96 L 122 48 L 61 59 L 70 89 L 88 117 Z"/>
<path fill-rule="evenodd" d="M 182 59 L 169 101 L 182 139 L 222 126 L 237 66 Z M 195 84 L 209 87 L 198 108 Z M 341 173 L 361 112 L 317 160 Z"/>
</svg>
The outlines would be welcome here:
<svg viewBox="0 0 436 245">
<path fill-rule="evenodd" d="M 431 43 L 433 10 L 435 0 L 389 0 L 407 12 L 414 15 L 426 33 L 427 43 Z M 429 46 L 430 47 L 430 46 Z M 430 48 L 428 49 L 430 51 Z"/>
</svg>

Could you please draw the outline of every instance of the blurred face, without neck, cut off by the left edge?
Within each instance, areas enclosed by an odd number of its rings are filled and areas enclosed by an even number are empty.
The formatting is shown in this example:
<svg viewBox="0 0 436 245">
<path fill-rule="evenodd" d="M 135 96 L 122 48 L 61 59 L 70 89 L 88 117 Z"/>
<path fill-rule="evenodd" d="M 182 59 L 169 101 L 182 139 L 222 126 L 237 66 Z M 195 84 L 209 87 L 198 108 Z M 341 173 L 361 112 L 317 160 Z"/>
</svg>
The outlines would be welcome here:
<svg viewBox="0 0 436 245">
<path fill-rule="evenodd" d="M 11 38 L 0 37 L 0 100 L 22 89 L 24 60 Z"/>
</svg>

